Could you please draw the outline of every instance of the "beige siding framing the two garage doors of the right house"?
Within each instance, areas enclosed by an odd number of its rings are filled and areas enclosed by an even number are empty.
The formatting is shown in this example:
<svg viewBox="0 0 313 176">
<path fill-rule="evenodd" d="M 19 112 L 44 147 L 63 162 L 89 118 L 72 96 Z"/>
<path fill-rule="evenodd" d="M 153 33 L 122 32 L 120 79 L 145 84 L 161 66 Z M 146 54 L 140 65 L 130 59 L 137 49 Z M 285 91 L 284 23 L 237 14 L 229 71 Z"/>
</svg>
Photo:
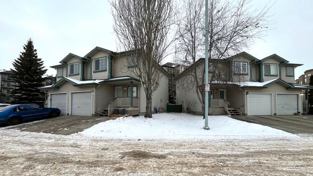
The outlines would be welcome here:
<svg viewBox="0 0 313 176">
<path fill-rule="evenodd" d="M 274 113 L 276 114 L 276 96 L 277 94 L 300 94 L 301 90 L 300 89 L 286 89 L 284 86 L 282 86 L 280 83 L 274 83 L 270 85 L 268 88 L 265 89 L 245 89 L 244 93 L 273 93 L 273 110 Z M 245 104 L 247 105 L 247 96 L 245 96 Z M 302 102 L 298 103 L 298 109 L 301 109 L 302 111 Z M 245 106 L 245 112 L 247 112 L 247 106 Z M 243 112 L 242 112 L 243 113 Z"/>
</svg>

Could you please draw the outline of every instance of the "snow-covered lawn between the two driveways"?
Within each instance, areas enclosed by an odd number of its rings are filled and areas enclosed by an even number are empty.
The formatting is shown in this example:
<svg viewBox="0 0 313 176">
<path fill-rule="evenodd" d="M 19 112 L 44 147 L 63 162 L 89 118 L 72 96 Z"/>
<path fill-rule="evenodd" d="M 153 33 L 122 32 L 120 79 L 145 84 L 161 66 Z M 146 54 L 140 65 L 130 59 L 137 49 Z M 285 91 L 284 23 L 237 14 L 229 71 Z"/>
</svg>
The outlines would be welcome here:
<svg viewBox="0 0 313 176">
<path fill-rule="evenodd" d="M 159 113 L 118 118 L 99 123 L 82 135 L 124 140 L 205 140 L 236 138 L 297 137 L 296 135 L 258 124 L 234 120 L 225 115 L 209 116 L 210 130 L 204 130 L 203 116 L 186 113 Z"/>
</svg>

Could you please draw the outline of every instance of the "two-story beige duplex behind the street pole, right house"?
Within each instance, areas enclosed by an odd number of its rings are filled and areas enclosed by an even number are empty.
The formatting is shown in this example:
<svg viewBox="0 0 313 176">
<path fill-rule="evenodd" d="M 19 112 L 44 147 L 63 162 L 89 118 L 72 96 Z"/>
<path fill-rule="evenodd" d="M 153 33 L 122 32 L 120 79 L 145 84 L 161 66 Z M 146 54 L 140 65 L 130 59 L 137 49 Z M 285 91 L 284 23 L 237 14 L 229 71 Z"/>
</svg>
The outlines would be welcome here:
<svg viewBox="0 0 313 176">
<path fill-rule="evenodd" d="M 204 58 L 195 64 L 198 73 L 202 74 Z M 291 64 L 277 54 L 259 60 L 241 52 L 219 62 L 210 62 L 210 65 L 213 67 L 209 68 L 209 78 L 212 74 L 221 75 L 210 85 L 210 114 L 283 115 L 302 112 L 301 90 L 310 87 L 294 84 L 294 69 L 301 64 Z M 190 72 L 191 68 L 178 75 L 175 81 L 183 80 Z M 176 103 L 182 103 L 183 107 L 187 103 L 192 104 L 189 107 L 191 111 L 203 113 L 196 88 L 176 87 Z"/>
</svg>

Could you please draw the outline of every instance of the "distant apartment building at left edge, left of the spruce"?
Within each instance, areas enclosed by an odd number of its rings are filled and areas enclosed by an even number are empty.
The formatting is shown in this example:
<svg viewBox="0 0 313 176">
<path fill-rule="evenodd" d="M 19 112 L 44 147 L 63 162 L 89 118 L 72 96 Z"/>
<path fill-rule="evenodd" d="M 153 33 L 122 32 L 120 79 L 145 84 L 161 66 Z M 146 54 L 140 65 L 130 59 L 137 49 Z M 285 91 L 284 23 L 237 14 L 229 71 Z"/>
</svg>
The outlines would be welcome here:
<svg viewBox="0 0 313 176">
<path fill-rule="evenodd" d="M 16 86 L 15 80 L 12 79 L 14 73 L 8 70 L 0 70 L 0 103 L 11 103 L 13 100 L 12 90 Z"/>
</svg>

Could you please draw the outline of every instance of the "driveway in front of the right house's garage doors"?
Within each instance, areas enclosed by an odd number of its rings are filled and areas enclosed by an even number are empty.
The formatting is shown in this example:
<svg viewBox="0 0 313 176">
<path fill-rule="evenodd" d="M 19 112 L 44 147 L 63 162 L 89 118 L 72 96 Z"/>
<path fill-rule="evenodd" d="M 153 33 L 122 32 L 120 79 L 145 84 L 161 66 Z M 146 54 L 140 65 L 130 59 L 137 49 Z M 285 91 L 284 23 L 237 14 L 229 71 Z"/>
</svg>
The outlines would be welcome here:
<svg viewBox="0 0 313 176">
<path fill-rule="evenodd" d="M 234 115 L 231 118 L 248 123 L 255 123 L 283 130 L 288 133 L 313 133 L 312 115 L 258 115 L 243 116 Z"/>
</svg>

